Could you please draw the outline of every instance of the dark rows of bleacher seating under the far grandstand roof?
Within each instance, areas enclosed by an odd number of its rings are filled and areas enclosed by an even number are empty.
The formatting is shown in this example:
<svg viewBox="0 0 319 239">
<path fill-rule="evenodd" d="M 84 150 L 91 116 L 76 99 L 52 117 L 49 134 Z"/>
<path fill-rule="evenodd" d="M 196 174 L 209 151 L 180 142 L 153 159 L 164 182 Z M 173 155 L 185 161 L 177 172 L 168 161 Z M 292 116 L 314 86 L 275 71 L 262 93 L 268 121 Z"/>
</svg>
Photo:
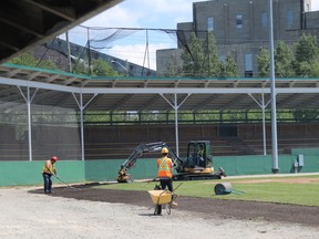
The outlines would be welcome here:
<svg viewBox="0 0 319 239">
<path fill-rule="evenodd" d="M 134 126 L 135 127 L 135 126 Z M 260 125 L 238 126 L 238 136 L 218 136 L 216 126 L 188 125 L 179 131 L 179 156 L 187 155 L 189 141 L 210 141 L 213 156 L 235 156 L 235 155 L 263 155 L 264 141 L 260 133 Z M 138 126 L 134 129 L 128 127 L 93 127 L 85 131 L 84 154 L 85 159 L 125 159 L 141 143 L 153 143 L 167 139 L 166 143 L 176 152 L 174 126 Z M 294 126 L 295 128 L 295 126 Z M 300 124 L 298 131 L 291 131 L 291 125 L 280 125 L 278 131 L 278 153 L 290 154 L 292 148 L 316 148 L 319 146 L 319 127 L 317 125 Z M 47 132 L 48 131 L 48 132 Z M 56 128 L 53 128 L 54 133 Z M 317 132 L 318 131 L 318 132 Z M 44 141 L 37 136 L 32 143 L 32 159 L 43 160 L 50 155 L 59 155 L 63 159 L 81 159 L 81 145 L 78 129 L 70 129 L 70 138 L 56 142 L 56 138 Z M 69 133 L 68 132 L 68 133 Z M 192 134 L 194 132 L 194 134 Z M 45 128 L 45 134 L 50 128 Z M 60 135 L 61 137 L 61 135 Z M 73 139 L 74 138 L 74 139 Z M 157 141 L 156 141 L 157 139 Z M 55 143 L 51 143 L 55 142 Z M 266 153 L 271 154 L 271 134 L 267 129 Z M 158 153 L 143 155 L 145 158 L 158 157 Z M 17 141 L 13 137 L 4 137 L 0 142 L 0 160 L 28 160 L 28 141 Z"/>
</svg>

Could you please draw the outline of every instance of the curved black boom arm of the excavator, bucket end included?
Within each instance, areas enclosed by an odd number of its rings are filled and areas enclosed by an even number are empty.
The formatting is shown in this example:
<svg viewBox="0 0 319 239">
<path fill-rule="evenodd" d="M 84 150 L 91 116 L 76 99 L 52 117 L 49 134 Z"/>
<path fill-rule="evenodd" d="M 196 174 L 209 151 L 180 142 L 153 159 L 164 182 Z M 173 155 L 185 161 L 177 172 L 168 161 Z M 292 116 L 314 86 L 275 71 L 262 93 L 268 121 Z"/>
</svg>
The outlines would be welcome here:
<svg viewBox="0 0 319 239">
<path fill-rule="evenodd" d="M 152 153 L 152 152 L 160 152 L 163 147 L 167 147 L 169 150 L 169 154 L 172 155 L 172 159 L 174 162 L 174 165 L 179 165 L 179 162 L 182 159 L 175 154 L 174 150 L 169 148 L 169 146 L 164 142 L 156 142 L 156 143 L 148 143 L 148 144 L 140 144 L 134 152 L 128 156 L 128 158 L 121 165 L 121 168 L 119 170 L 119 183 L 130 183 L 133 181 L 131 178 L 131 175 L 127 174 L 127 170 L 132 168 L 136 160 L 142 157 L 144 153 Z"/>
</svg>

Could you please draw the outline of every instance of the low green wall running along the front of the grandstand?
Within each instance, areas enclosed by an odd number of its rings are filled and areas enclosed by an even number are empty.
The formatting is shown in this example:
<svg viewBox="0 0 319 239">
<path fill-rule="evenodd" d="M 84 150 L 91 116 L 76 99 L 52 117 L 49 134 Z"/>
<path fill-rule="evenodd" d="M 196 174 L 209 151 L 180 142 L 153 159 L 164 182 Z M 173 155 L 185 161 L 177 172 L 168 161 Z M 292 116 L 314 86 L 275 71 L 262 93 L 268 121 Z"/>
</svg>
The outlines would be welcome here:
<svg viewBox="0 0 319 239">
<path fill-rule="evenodd" d="M 271 175 L 271 155 L 214 157 L 215 169 L 223 167 L 228 176 Z M 299 162 L 300 160 L 300 165 Z M 64 181 L 114 181 L 123 159 L 60 160 L 58 174 Z M 296 164 L 297 162 L 297 164 Z M 42 185 L 44 162 L 0 162 L 0 186 Z M 290 155 L 279 155 L 279 174 L 318 173 L 319 148 L 295 148 Z M 133 179 L 156 177 L 156 159 L 140 159 L 130 170 Z M 61 181 L 53 178 L 54 184 Z"/>
</svg>

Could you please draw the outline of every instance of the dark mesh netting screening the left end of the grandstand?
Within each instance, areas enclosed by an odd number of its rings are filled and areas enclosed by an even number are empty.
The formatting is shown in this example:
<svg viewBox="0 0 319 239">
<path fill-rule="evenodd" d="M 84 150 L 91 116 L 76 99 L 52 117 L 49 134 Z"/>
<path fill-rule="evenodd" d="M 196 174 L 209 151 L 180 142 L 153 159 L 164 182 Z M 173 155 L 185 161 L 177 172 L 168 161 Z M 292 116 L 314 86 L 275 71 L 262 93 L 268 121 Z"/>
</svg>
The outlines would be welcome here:
<svg viewBox="0 0 319 239">
<path fill-rule="evenodd" d="M 19 90 L 21 97 L 11 101 L 9 92 Z M 78 106 L 68 107 L 72 94 L 32 90 L 28 98 L 27 90 L 17 86 L 9 86 L 7 93 L 7 100 L 0 102 L 0 160 L 29 160 L 30 154 L 32 160 L 44 160 L 53 155 L 62 160 L 81 159 L 79 110 Z M 62 106 L 47 104 L 45 98 L 56 96 Z"/>
</svg>

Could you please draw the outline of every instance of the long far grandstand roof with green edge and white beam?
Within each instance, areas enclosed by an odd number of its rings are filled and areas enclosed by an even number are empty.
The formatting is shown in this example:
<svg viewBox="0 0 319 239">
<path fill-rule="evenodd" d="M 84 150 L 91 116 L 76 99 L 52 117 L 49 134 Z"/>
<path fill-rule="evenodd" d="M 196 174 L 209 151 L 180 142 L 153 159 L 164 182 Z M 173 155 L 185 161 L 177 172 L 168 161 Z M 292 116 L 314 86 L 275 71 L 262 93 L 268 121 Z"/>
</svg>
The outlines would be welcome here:
<svg viewBox="0 0 319 239">
<path fill-rule="evenodd" d="M 21 90 L 28 86 L 32 104 L 76 108 L 82 95 L 84 110 L 105 112 L 253 110 L 270 98 L 270 79 L 91 77 L 4 64 L 0 111 L 25 103 Z M 277 110 L 317 110 L 319 79 L 276 79 L 276 93 Z"/>
</svg>

